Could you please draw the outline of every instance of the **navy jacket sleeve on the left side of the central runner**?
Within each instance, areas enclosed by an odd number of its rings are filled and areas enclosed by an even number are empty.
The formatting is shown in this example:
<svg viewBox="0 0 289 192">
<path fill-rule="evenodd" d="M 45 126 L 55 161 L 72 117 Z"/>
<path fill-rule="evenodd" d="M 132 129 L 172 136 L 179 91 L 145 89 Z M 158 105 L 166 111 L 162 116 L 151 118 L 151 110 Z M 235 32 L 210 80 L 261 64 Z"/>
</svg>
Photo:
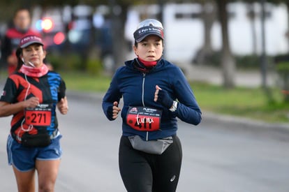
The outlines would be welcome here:
<svg viewBox="0 0 289 192">
<path fill-rule="evenodd" d="M 119 91 L 118 87 L 118 80 L 117 80 L 117 74 L 116 72 L 114 76 L 112 77 L 112 82 L 110 82 L 110 87 L 108 88 L 108 91 L 105 93 L 105 96 L 103 97 L 103 112 L 105 113 L 105 116 L 110 120 L 112 119 L 112 106 L 114 101 L 117 101 L 119 103 L 119 100 L 121 98 L 121 93 Z"/>
</svg>

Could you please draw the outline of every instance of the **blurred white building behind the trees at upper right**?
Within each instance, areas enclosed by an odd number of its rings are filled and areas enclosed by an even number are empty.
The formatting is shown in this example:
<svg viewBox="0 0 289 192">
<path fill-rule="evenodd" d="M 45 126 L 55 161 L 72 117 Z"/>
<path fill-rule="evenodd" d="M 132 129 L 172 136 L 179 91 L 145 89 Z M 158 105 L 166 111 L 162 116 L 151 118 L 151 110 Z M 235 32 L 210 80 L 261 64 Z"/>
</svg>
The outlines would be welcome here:
<svg viewBox="0 0 289 192">
<path fill-rule="evenodd" d="M 261 52 L 261 8 L 259 3 L 248 4 L 237 2 L 228 4 L 228 30 L 233 54 L 246 55 Z M 192 61 L 204 43 L 204 25 L 200 17 L 203 7 L 198 3 L 168 3 L 163 6 L 163 27 L 165 28 L 165 57 L 170 61 Z M 249 17 L 253 10 L 255 17 Z M 133 40 L 131 26 L 137 26 L 142 17 L 156 18 L 161 10 L 157 5 L 134 6 L 130 10 L 127 24 L 127 38 Z M 253 25 L 252 25 L 253 20 Z M 278 6 L 266 4 L 266 50 L 270 55 L 288 52 L 288 12 L 285 4 Z M 252 27 L 254 29 L 252 29 Z M 255 31 L 255 40 L 252 31 Z M 130 35 L 131 34 L 131 35 Z M 221 25 L 217 20 L 213 24 L 212 48 L 221 49 Z M 253 45 L 255 42 L 255 45 Z M 254 47 L 256 46 L 256 47 Z"/>
</svg>

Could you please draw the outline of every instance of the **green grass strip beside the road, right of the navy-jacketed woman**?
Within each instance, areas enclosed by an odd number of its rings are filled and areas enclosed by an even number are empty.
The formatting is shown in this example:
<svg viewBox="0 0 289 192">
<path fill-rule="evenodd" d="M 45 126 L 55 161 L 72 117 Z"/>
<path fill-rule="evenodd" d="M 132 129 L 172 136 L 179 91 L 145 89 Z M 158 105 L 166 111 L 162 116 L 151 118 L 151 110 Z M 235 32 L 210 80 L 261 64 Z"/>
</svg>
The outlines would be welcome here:
<svg viewBox="0 0 289 192">
<path fill-rule="evenodd" d="M 225 89 L 202 82 L 194 82 L 191 87 L 203 111 L 269 122 L 289 122 L 289 103 L 283 102 L 283 95 L 278 88 L 273 89 L 274 102 L 269 103 L 261 88 Z"/>
</svg>

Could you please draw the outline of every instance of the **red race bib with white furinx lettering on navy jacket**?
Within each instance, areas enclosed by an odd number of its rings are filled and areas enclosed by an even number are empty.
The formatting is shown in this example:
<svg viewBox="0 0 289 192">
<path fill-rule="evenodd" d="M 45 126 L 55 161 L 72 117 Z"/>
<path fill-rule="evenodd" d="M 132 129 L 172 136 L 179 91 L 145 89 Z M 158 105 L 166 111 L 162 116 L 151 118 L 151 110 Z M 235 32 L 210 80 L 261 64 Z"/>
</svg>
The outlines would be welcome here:
<svg viewBox="0 0 289 192">
<path fill-rule="evenodd" d="M 147 107 L 129 107 L 126 124 L 138 131 L 156 131 L 161 125 L 161 110 Z"/>
</svg>

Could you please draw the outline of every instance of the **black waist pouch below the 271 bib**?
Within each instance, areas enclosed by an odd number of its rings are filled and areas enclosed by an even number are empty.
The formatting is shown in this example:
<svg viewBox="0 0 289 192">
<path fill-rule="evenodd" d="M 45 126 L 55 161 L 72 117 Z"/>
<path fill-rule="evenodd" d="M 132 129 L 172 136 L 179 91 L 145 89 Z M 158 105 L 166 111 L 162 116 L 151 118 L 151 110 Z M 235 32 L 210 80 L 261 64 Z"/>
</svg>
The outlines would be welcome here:
<svg viewBox="0 0 289 192">
<path fill-rule="evenodd" d="M 24 147 L 47 147 L 50 143 L 51 139 L 48 133 L 38 133 L 36 135 L 24 133 L 21 138 L 21 144 Z"/>
</svg>

